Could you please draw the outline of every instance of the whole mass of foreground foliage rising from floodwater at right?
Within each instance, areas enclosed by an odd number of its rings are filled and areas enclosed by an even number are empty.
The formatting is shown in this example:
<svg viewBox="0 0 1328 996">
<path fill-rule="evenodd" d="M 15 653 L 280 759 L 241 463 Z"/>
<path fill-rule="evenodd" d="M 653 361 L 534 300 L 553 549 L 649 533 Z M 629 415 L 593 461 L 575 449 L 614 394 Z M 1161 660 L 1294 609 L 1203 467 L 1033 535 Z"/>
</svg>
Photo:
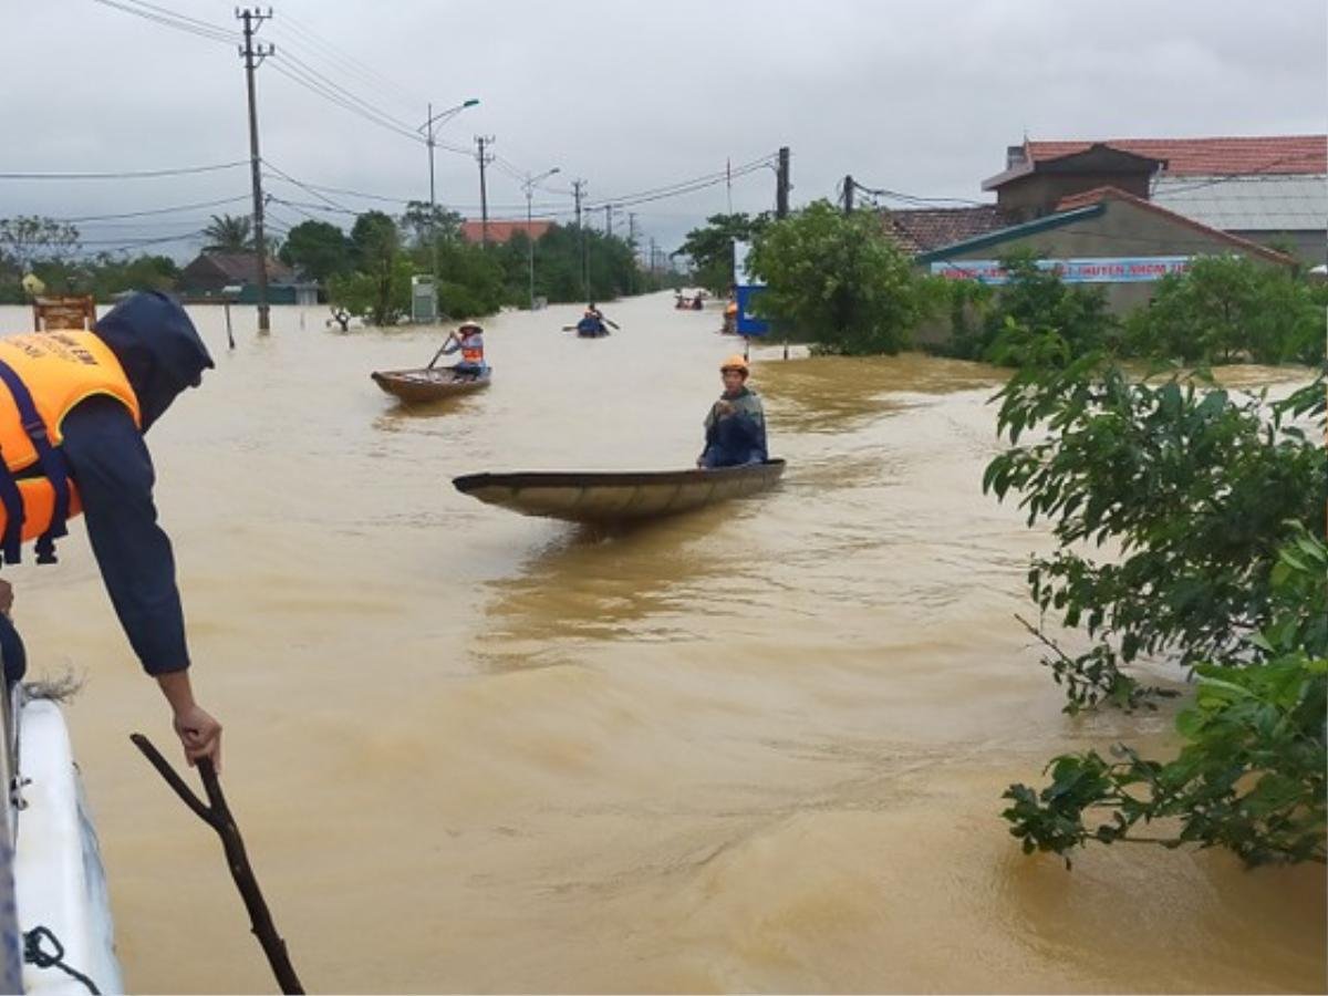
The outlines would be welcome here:
<svg viewBox="0 0 1328 996">
<path fill-rule="evenodd" d="M 1323 859 L 1324 378 L 1270 402 L 1174 369 L 1157 384 L 1131 378 L 1101 352 L 1076 357 L 1054 331 L 1013 321 L 1003 343 L 1017 365 L 997 394 L 1011 448 L 983 485 L 1020 495 L 1029 525 L 1049 522 L 1060 543 L 1028 580 L 1044 616 L 1092 640 L 1070 655 L 1044 637 L 1066 710 L 1150 704 L 1159 689 L 1127 673 L 1142 656 L 1199 675 L 1178 758 L 1127 748 L 1114 762 L 1056 758 L 1046 789 L 1007 793 L 1012 833 L 1027 850 L 1064 854 L 1175 817 L 1181 833 L 1157 839 L 1250 862 Z M 1116 554 L 1094 559 L 1108 542 Z M 1089 809 L 1110 822 L 1088 827 Z"/>
</svg>

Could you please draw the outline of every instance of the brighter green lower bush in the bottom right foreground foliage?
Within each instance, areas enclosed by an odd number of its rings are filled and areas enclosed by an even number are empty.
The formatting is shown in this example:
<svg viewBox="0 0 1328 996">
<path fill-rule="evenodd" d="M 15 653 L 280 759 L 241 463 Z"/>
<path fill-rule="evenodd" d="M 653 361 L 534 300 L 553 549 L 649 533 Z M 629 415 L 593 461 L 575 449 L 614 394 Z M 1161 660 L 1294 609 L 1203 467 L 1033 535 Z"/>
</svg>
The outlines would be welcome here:
<svg viewBox="0 0 1328 996">
<path fill-rule="evenodd" d="M 1123 744 L 1048 765 L 1050 785 L 1012 785 L 1001 814 L 1024 851 L 1065 857 L 1090 842 L 1222 846 L 1248 865 L 1324 863 L 1328 839 L 1328 547 L 1296 530 L 1274 566 L 1275 610 L 1230 663 L 1197 668 L 1194 705 L 1177 716 L 1183 748 L 1145 760 Z M 1173 821 L 1166 837 L 1138 829 Z"/>
</svg>

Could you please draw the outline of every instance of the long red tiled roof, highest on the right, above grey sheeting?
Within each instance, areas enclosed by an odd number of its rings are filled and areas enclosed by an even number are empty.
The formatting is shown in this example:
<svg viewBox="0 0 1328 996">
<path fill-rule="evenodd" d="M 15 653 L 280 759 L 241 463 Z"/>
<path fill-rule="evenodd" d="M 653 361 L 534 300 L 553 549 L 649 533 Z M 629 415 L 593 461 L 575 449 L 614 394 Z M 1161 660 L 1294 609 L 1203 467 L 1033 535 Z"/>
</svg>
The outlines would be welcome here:
<svg viewBox="0 0 1328 996">
<path fill-rule="evenodd" d="M 1169 177 L 1232 177 L 1259 174 L 1328 174 L 1328 135 L 1266 135 L 1247 138 L 1105 138 L 1121 151 L 1166 159 Z M 1029 162 L 1082 153 L 1093 142 L 1024 142 Z"/>
</svg>

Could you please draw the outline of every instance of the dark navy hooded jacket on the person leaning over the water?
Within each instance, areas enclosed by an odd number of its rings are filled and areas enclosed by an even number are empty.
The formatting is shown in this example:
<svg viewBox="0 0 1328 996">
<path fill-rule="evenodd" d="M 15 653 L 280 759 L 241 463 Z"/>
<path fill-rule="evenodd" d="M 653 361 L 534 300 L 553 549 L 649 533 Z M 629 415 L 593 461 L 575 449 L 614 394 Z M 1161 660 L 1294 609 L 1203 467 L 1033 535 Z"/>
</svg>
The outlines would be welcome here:
<svg viewBox="0 0 1328 996">
<path fill-rule="evenodd" d="M 212 367 L 185 309 L 137 293 L 93 331 L 112 348 L 138 397 L 143 432 Z M 129 410 L 106 396 L 81 402 L 62 425 L 61 450 L 78 486 L 88 538 L 129 643 L 150 675 L 189 667 L 170 539 L 157 525 L 153 459 Z"/>
</svg>

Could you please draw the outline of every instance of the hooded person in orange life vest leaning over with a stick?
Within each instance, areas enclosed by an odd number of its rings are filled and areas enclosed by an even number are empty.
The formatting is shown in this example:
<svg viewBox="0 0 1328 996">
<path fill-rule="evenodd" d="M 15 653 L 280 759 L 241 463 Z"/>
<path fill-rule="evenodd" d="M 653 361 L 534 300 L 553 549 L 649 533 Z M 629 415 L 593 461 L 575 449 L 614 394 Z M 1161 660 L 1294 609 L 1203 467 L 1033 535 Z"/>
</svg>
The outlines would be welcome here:
<svg viewBox="0 0 1328 996">
<path fill-rule="evenodd" d="M 143 442 L 211 367 L 185 309 L 162 293 L 126 299 L 90 332 L 0 339 L 0 555 L 19 563 L 23 544 L 36 540 L 37 563 L 54 563 L 65 519 L 82 513 L 112 606 L 170 704 L 186 760 L 219 768 L 222 725 L 194 700 L 175 560 L 157 525 Z M 11 600 L 3 583 L 0 603 Z M 21 677 L 13 643 L 0 640 L 11 681 Z"/>
</svg>

